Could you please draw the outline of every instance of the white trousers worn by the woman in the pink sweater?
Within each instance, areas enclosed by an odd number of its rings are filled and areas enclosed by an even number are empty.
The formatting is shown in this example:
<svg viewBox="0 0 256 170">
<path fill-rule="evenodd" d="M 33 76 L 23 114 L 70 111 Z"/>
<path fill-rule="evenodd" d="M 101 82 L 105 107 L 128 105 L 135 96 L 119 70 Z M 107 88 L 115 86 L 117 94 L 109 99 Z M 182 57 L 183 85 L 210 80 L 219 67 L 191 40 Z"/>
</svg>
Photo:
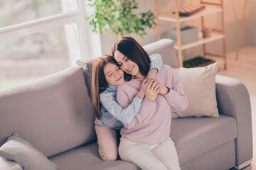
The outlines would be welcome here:
<svg viewBox="0 0 256 170">
<path fill-rule="evenodd" d="M 120 139 L 119 156 L 122 160 L 137 164 L 142 170 L 180 170 L 174 142 L 169 137 L 157 145 L 144 145 Z"/>
</svg>

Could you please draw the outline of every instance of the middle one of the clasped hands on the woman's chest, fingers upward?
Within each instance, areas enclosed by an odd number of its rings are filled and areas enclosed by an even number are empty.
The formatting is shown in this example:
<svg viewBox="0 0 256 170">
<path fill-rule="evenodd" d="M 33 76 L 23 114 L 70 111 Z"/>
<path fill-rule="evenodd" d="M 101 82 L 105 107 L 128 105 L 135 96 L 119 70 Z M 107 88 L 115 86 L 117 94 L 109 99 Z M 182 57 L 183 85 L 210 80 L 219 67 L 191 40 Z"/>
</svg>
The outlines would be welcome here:
<svg viewBox="0 0 256 170">
<path fill-rule="evenodd" d="M 157 94 L 160 90 L 160 84 L 158 81 L 149 82 L 148 86 L 146 87 L 146 94 L 145 97 L 149 101 L 155 101 Z"/>
</svg>

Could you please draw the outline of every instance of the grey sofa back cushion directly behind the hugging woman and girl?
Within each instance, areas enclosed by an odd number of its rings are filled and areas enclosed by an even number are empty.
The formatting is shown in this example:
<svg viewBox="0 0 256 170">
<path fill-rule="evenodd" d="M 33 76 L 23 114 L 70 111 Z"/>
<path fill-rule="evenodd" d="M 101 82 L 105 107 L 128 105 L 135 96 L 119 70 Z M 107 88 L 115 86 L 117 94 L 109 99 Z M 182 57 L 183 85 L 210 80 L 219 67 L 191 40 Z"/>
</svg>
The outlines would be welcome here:
<svg viewBox="0 0 256 170">
<path fill-rule="evenodd" d="M 179 68 L 178 58 L 176 57 L 176 51 L 174 49 L 174 40 L 170 39 L 161 39 L 156 42 L 153 42 L 149 45 L 144 46 L 144 50 L 149 55 L 155 53 L 162 56 L 164 64 L 168 64 L 172 68 Z M 82 67 L 85 74 L 85 84 L 88 87 L 88 95 L 91 96 L 91 84 L 92 84 L 92 64 L 95 58 L 89 60 L 78 60 L 78 66 Z"/>
</svg>

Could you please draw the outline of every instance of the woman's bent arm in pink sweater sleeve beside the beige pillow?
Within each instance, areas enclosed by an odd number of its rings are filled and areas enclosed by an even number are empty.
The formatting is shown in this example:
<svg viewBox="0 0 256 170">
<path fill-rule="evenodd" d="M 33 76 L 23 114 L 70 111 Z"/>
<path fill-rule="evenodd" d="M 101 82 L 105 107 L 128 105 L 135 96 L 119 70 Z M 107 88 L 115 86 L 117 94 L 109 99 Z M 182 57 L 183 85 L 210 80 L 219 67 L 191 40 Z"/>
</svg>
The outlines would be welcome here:
<svg viewBox="0 0 256 170">
<path fill-rule="evenodd" d="M 179 81 L 178 77 L 171 69 L 167 68 L 166 77 L 166 86 L 168 88 L 167 94 L 164 95 L 166 101 L 169 103 L 169 106 L 175 108 L 177 111 L 185 111 L 188 106 L 188 98 L 184 92 L 183 85 Z"/>
</svg>

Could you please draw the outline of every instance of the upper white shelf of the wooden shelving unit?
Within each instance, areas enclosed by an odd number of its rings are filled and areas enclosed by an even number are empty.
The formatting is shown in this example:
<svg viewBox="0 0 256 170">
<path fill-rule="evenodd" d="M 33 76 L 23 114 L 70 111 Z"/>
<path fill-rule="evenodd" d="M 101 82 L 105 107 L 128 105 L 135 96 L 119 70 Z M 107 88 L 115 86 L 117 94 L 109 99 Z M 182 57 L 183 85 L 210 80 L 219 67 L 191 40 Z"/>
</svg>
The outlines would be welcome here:
<svg viewBox="0 0 256 170">
<path fill-rule="evenodd" d="M 193 14 L 192 16 L 180 16 L 179 17 L 179 21 L 183 22 L 183 21 L 188 21 L 191 20 L 193 18 L 199 18 L 201 16 L 207 16 L 213 13 L 220 13 L 222 12 L 223 9 L 222 8 L 210 8 L 210 7 L 206 7 L 206 9 L 204 9 L 203 11 L 200 11 L 198 13 Z M 174 17 L 167 17 L 167 16 L 159 16 L 160 20 L 164 20 L 164 21 L 171 21 L 171 22 L 176 22 L 177 19 Z"/>
</svg>

